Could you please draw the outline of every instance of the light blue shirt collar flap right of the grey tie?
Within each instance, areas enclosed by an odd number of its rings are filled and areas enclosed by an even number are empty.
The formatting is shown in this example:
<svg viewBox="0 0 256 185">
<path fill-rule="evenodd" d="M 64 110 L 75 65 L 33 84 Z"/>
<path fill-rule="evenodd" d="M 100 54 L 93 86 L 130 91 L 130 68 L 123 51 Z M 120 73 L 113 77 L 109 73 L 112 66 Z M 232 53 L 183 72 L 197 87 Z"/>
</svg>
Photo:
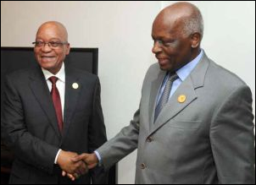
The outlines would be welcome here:
<svg viewBox="0 0 256 185">
<path fill-rule="evenodd" d="M 190 63 L 187 63 L 185 66 L 176 71 L 177 75 L 182 81 L 184 81 L 186 77 L 192 72 L 192 70 L 196 67 L 202 57 L 203 49 L 199 53 L 198 57 L 195 57 Z"/>
</svg>

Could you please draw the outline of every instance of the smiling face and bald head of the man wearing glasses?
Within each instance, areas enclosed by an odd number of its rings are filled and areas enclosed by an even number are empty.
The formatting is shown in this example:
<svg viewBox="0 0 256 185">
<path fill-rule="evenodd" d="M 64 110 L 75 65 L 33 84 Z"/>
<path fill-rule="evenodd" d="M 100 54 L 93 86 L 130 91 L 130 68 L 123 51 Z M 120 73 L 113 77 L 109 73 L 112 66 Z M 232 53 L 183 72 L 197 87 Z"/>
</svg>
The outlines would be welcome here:
<svg viewBox="0 0 256 185">
<path fill-rule="evenodd" d="M 67 32 L 62 24 L 47 22 L 38 29 L 36 41 L 65 43 L 67 42 Z M 70 53 L 70 44 L 59 44 L 57 47 L 49 45 L 35 46 L 34 52 L 39 65 L 56 74 L 62 67 L 65 56 Z"/>
</svg>

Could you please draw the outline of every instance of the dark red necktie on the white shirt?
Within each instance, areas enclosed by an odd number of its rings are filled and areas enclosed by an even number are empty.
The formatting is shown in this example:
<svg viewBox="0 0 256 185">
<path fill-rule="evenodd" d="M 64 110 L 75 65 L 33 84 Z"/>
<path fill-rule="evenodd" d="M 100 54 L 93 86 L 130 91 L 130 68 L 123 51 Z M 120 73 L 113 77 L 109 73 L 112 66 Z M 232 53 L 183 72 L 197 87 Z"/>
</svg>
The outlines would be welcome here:
<svg viewBox="0 0 256 185">
<path fill-rule="evenodd" d="M 52 76 L 51 78 L 49 78 L 49 80 L 52 82 L 51 95 L 53 99 L 53 106 L 55 108 L 56 116 L 58 119 L 58 128 L 59 128 L 59 131 L 62 132 L 62 128 L 63 128 L 62 107 L 61 107 L 61 101 L 60 101 L 58 89 L 56 87 L 56 82 L 58 78 L 55 76 Z"/>
</svg>

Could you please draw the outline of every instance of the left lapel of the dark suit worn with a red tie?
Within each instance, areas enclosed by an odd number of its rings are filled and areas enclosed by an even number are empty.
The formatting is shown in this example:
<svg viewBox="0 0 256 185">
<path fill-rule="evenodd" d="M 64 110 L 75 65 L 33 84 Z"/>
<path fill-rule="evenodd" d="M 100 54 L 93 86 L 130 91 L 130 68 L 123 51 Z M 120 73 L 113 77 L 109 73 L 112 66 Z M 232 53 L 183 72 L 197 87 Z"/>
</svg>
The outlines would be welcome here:
<svg viewBox="0 0 256 185">
<path fill-rule="evenodd" d="M 61 138 L 58 130 L 58 121 L 53 106 L 52 97 L 50 95 L 49 89 L 47 87 L 47 82 L 43 76 L 42 69 L 40 67 L 36 68 L 36 71 L 31 74 L 31 90 L 36 96 L 36 100 L 42 106 L 43 112 L 49 118 L 55 133 Z"/>
</svg>

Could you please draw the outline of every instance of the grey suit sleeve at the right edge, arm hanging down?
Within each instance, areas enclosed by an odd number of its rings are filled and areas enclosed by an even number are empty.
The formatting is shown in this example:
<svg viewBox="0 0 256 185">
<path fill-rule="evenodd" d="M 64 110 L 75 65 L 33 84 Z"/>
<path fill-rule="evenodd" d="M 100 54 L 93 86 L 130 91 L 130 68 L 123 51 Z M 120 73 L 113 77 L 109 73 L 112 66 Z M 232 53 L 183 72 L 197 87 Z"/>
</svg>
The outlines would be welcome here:
<svg viewBox="0 0 256 185">
<path fill-rule="evenodd" d="M 252 94 L 242 86 L 223 101 L 210 128 L 220 183 L 255 184 Z"/>
</svg>

